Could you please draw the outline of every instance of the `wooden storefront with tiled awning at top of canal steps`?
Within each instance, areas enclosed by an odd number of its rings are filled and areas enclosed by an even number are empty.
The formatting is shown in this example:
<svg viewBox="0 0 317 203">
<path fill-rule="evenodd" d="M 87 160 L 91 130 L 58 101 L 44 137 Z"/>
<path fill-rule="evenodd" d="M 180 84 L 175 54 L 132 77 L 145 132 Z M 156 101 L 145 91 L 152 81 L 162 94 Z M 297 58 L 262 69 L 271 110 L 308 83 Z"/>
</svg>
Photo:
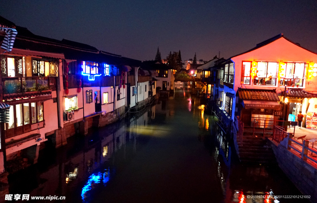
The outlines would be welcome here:
<svg viewBox="0 0 317 203">
<path fill-rule="evenodd" d="M 280 99 L 275 90 L 238 89 L 238 115 L 244 126 L 272 128 L 281 116 Z"/>
</svg>

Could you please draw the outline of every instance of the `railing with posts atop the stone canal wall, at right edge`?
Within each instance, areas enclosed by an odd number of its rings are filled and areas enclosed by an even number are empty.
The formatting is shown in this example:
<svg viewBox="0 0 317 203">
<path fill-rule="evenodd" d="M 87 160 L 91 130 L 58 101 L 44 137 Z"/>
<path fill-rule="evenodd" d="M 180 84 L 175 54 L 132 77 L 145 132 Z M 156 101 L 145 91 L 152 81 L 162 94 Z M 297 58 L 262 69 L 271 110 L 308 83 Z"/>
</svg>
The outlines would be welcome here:
<svg viewBox="0 0 317 203">
<path fill-rule="evenodd" d="M 296 153 L 301 155 L 301 159 L 304 161 L 310 160 L 317 164 L 317 150 L 309 146 L 309 141 L 304 140 L 303 143 L 298 142 L 292 137 L 292 133 L 289 133 L 289 136 L 287 137 L 288 144 L 287 149 L 291 150 L 293 149 Z"/>
</svg>

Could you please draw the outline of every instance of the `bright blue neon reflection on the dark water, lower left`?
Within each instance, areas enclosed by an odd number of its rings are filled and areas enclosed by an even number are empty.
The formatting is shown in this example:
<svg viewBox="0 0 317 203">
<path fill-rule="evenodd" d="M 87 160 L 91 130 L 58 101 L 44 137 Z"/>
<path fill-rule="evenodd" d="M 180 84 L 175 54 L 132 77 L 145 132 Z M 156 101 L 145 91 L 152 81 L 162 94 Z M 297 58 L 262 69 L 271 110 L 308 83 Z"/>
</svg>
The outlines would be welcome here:
<svg viewBox="0 0 317 203">
<path fill-rule="evenodd" d="M 81 190 L 81 200 L 85 202 L 85 200 L 89 196 L 89 192 L 93 188 L 97 187 L 96 184 L 100 183 L 101 180 L 103 182 L 103 185 L 106 186 L 107 182 L 110 180 L 109 174 L 109 168 L 105 169 L 103 174 L 100 172 L 91 174 L 88 178 L 86 185 Z"/>
</svg>

